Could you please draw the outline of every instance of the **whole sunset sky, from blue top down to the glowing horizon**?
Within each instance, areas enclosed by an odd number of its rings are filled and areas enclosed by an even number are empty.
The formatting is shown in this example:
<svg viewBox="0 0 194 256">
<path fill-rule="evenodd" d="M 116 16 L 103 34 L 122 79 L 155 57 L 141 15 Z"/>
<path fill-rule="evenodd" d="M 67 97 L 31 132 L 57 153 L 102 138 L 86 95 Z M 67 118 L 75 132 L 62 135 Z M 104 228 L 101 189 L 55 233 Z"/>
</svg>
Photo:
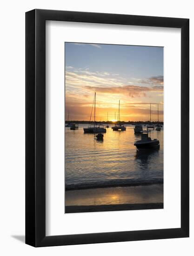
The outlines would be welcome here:
<svg viewBox="0 0 194 256">
<path fill-rule="evenodd" d="M 66 120 L 163 121 L 163 47 L 65 43 Z M 155 105 L 154 105 L 155 104 Z M 92 118 L 93 120 L 94 118 Z"/>
</svg>

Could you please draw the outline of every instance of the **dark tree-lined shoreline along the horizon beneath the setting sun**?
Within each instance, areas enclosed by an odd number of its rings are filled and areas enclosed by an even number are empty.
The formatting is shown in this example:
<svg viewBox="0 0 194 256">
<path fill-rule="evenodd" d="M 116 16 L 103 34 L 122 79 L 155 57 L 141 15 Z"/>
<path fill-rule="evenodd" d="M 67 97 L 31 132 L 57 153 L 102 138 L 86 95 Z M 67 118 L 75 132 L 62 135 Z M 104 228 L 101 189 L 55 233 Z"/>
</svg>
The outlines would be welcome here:
<svg viewBox="0 0 194 256">
<path fill-rule="evenodd" d="M 102 124 L 115 124 L 117 122 L 112 122 L 112 121 L 65 121 L 65 123 L 82 123 L 82 124 L 88 124 L 88 123 L 102 123 Z M 161 124 L 163 125 L 164 122 L 158 122 L 158 121 L 153 121 L 153 122 L 150 122 L 150 121 L 120 121 L 119 123 L 122 123 L 122 124 Z"/>
</svg>

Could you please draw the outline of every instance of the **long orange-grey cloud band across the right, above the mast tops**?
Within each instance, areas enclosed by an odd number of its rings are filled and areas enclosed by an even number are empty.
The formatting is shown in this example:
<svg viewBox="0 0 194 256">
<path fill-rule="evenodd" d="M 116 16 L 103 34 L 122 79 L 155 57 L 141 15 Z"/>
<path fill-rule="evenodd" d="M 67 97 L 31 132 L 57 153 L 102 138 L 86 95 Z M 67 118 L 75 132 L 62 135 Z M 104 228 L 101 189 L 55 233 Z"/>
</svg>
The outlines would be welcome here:
<svg viewBox="0 0 194 256">
<path fill-rule="evenodd" d="M 85 86 L 86 89 L 93 90 L 100 93 L 107 94 L 128 94 L 129 97 L 146 97 L 148 92 L 163 92 L 163 86 L 136 86 L 136 85 L 125 85 L 119 87 L 92 87 Z"/>
</svg>

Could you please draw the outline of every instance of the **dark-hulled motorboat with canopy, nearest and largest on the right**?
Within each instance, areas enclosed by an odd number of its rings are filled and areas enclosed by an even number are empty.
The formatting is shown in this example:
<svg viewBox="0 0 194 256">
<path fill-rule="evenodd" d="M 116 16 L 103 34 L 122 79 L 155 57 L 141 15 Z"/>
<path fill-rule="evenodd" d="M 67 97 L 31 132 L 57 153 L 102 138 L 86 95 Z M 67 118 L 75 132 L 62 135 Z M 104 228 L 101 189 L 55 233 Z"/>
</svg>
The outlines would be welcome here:
<svg viewBox="0 0 194 256">
<path fill-rule="evenodd" d="M 148 137 L 148 132 L 143 132 L 141 134 L 141 140 L 135 141 L 134 146 L 138 150 L 141 149 L 159 149 L 160 148 L 160 141 L 158 139 L 152 140 L 150 137 Z"/>
</svg>

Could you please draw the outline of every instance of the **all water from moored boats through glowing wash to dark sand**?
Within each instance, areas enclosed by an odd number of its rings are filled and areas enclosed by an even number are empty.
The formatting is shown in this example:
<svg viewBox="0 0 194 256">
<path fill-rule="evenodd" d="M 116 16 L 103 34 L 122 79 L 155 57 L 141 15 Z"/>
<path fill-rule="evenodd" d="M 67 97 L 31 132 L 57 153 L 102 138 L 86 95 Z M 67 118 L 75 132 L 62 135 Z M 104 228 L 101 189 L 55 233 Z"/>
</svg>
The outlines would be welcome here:
<svg viewBox="0 0 194 256">
<path fill-rule="evenodd" d="M 149 133 L 159 150 L 138 152 L 134 126 L 113 131 L 110 125 L 103 141 L 84 134 L 87 126 L 65 128 L 66 205 L 163 202 L 163 128 Z"/>
</svg>

